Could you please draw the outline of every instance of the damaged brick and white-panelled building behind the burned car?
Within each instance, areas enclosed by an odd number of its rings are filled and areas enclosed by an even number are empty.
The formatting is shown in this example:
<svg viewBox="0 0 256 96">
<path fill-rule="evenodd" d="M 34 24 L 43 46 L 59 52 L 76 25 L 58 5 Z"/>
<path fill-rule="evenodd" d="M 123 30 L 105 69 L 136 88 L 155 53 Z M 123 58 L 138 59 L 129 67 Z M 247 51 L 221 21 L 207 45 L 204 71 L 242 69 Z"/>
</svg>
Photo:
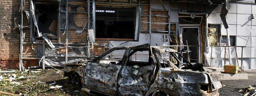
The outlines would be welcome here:
<svg viewBox="0 0 256 96">
<path fill-rule="evenodd" d="M 191 63 L 256 69 L 255 14 L 254 0 L 1 0 L 0 66 L 59 67 L 149 43 Z"/>
</svg>

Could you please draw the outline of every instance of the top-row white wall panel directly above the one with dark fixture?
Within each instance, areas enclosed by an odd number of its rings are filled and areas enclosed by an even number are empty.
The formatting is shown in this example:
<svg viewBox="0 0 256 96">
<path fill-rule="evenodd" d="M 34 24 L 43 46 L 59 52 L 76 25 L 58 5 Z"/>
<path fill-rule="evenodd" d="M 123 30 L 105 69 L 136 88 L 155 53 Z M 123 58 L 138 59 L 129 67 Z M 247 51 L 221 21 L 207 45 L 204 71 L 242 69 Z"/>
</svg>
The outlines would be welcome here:
<svg viewBox="0 0 256 96">
<path fill-rule="evenodd" d="M 239 14 L 251 14 L 251 4 L 237 4 L 237 13 Z"/>
</svg>

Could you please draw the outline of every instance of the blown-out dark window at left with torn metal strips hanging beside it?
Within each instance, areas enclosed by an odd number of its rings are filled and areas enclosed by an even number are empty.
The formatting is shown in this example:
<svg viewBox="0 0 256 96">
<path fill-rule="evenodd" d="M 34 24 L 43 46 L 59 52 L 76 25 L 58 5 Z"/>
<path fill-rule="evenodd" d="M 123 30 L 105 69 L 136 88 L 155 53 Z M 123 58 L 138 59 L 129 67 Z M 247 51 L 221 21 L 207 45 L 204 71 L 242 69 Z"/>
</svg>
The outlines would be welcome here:
<svg viewBox="0 0 256 96">
<path fill-rule="evenodd" d="M 36 20 L 39 32 L 56 38 L 58 29 L 58 4 L 36 4 Z M 36 33 L 34 33 L 36 36 Z"/>
</svg>

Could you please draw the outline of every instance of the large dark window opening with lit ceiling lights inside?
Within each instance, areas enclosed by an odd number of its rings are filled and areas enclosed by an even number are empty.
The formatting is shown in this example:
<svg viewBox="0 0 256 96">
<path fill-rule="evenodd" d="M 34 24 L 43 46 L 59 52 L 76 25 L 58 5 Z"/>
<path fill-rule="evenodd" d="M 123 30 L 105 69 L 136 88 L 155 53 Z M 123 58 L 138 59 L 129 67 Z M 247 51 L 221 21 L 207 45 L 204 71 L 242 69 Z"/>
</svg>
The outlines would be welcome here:
<svg viewBox="0 0 256 96">
<path fill-rule="evenodd" d="M 96 38 L 134 39 L 135 7 L 97 6 Z"/>
</svg>

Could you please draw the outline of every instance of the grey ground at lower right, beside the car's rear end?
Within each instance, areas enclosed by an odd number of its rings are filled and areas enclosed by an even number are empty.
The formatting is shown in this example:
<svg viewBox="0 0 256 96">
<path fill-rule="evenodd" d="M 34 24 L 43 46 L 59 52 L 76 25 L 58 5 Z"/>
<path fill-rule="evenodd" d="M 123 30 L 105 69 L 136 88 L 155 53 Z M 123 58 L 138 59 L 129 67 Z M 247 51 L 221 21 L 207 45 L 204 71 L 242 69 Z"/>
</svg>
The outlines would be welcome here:
<svg viewBox="0 0 256 96">
<path fill-rule="evenodd" d="M 249 85 L 256 89 L 256 70 L 245 70 L 244 73 L 248 73 L 248 80 L 223 80 L 222 85 L 226 86 L 220 88 L 220 96 L 244 96 L 244 93 L 238 91 Z M 251 91 L 250 95 L 254 92 Z"/>
</svg>

